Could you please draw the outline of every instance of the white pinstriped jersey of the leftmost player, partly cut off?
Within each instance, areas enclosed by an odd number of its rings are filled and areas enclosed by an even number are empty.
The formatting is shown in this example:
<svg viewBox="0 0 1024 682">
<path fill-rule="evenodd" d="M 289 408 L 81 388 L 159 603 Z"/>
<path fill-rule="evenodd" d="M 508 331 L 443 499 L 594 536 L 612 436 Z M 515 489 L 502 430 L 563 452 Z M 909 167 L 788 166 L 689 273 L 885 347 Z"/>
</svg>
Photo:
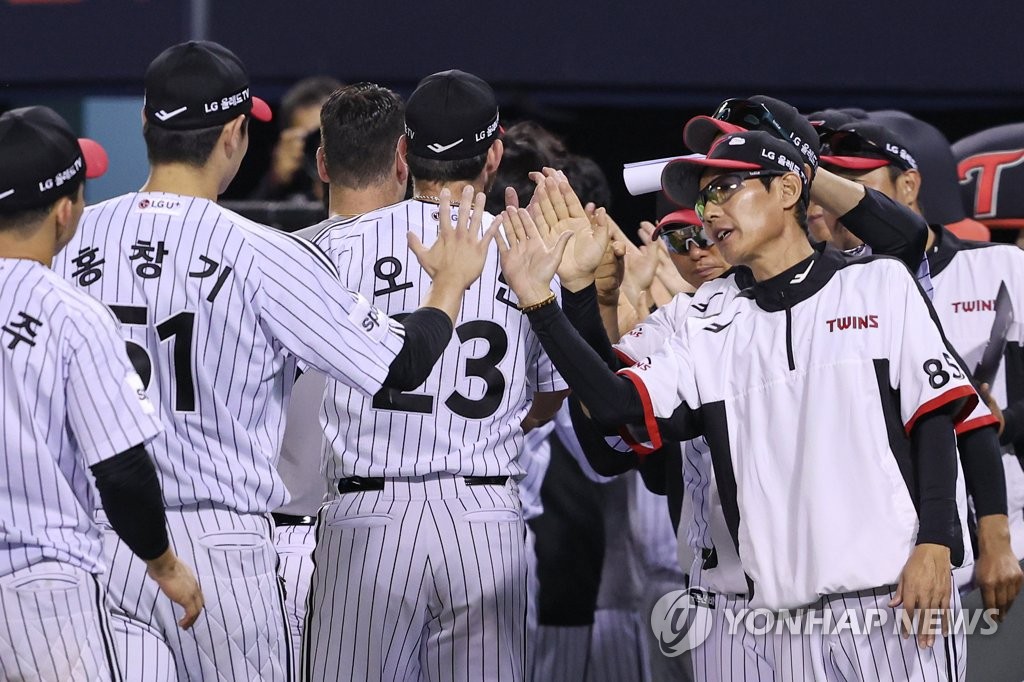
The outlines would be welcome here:
<svg viewBox="0 0 1024 682">
<path fill-rule="evenodd" d="M 0 258 L 0 576 L 104 570 L 88 467 L 160 432 L 110 311 L 41 263 Z"/>
</svg>

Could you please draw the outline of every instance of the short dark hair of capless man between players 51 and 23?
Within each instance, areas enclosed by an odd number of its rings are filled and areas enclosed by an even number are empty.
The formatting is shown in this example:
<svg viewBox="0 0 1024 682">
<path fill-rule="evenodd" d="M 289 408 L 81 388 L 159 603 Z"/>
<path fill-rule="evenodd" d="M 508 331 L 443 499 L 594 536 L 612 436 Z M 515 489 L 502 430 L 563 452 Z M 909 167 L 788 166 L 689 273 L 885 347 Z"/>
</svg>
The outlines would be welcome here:
<svg viewBox="0 0 1024 682">
<path fill-rule="evenodd" d="M 387 177 L 404 122 L 401 97 L 385 87 L 356 83 L 335 90 L 321 110 L 321 143 L 331 183 L 358 189 Z"/>
</svg>

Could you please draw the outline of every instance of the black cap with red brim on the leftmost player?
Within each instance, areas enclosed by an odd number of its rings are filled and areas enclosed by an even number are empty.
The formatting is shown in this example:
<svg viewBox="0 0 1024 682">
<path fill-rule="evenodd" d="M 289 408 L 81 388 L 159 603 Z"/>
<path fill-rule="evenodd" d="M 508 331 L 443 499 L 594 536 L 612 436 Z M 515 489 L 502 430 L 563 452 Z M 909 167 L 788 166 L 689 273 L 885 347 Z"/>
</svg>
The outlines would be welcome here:
<svg viewBox="0 0 1024 682">
<path fill-rule="evenodd" d="M 106 172 L 106 152 L 46 106 L 0 116 L 0 212 L 42 208 Z"/>
</svg>

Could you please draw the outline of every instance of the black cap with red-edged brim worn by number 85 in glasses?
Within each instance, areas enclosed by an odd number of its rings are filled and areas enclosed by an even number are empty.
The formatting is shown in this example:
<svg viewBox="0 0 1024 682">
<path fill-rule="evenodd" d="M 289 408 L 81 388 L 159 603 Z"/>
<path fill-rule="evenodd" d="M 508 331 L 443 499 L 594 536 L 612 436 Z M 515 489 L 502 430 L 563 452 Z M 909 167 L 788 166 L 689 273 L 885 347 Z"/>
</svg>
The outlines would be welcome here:
<svg viewBox="0 0 1024 682">
<path fill-rule="evenodd" d="M 796 146 L 760 130 L 732 133 L 719 138 L 707 157 L 683 157 L 669 162 L 662 171 L 662 189 L 680 206 L 696 203 L 700 176 L 709 169 L 773 170 L 796 173 L 805 189 L 804 157 Z"/>
</svg>

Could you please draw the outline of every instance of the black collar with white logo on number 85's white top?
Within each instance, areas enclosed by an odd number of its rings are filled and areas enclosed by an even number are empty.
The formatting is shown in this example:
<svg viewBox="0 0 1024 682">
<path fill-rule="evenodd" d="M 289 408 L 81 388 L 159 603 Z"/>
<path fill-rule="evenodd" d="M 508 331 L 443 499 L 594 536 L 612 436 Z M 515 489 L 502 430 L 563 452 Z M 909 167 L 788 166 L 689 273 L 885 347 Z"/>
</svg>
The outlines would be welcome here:
<svg viewBox="0 0 1024 682">
<path fill-rule="evenodd" d="M 736 268 L 736 285 L 742 290 L 740 296 L 754 299 L 767 312 L 778 312 L 821 291 L 844 265 L 843 254 L 819 243 L 810 256 L 764 282 L 755 282 L 749 268 Z"/>
</svg>

